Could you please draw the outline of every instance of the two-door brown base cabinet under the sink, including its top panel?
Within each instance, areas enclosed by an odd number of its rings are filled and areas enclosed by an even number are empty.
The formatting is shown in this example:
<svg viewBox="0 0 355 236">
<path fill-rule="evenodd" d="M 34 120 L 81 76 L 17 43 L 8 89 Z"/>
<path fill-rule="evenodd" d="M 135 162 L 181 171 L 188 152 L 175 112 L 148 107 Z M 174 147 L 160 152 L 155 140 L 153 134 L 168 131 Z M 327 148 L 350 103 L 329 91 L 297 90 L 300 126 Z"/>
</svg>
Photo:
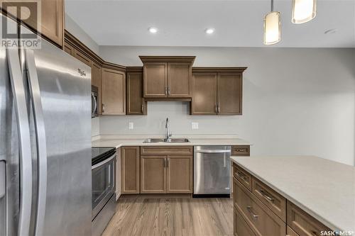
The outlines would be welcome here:
<svg viewBox="0 0 355 236">
<path fill-rule="evenodd" d="M 141 147 L 141 193 L 192 193 L 192 146 Z"/>
</svg>

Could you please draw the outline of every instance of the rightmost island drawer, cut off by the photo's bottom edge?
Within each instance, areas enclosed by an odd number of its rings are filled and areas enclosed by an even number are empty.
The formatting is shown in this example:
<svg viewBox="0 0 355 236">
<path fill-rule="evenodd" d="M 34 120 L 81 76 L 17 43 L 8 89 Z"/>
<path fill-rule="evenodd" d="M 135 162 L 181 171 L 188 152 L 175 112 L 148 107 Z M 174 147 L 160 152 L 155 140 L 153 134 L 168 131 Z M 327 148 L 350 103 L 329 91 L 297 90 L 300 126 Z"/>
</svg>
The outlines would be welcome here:
<svg viewBox="0 0 355 236">
<path fill-rule="evenodd" d="M 287 223 L 300 236 L 320 236 L 321 231 L 330 231 L 290 201 L 287 202 Z"/>
</svg>

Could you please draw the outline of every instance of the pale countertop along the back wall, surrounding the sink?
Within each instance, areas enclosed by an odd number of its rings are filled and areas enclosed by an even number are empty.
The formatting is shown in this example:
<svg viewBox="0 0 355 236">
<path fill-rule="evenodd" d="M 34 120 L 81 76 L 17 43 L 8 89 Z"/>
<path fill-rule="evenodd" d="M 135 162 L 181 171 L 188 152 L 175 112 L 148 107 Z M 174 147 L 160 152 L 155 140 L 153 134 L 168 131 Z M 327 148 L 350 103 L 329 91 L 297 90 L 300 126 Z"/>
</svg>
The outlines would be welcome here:
<svg viewBox="0 0 355 236">
<path fill-rule="evenodd" d="M 163 138 L 162 135 L 101 135 L 92 138 L 92 147 L 122 146 L 197 146 L 197 145 L 251 145 L 235 135 L 173 135 L 172 138 L 185 137 L 190 142 L 143 143 L 147 138 Z"/>
</svg>

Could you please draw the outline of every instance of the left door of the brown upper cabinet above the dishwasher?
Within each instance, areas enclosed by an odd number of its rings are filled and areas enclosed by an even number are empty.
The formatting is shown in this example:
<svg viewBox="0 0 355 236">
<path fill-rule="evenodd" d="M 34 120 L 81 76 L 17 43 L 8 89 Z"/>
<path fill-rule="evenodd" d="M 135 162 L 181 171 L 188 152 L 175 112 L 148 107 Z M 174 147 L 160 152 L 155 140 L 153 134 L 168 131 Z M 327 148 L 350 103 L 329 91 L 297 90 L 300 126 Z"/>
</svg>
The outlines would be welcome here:
<svg viewBox="0 0 355 236">
<path fill-rule="evenodd" d="M 217 73 L 192 75 L 191 115 L 217 115 Z"/>
</svg>

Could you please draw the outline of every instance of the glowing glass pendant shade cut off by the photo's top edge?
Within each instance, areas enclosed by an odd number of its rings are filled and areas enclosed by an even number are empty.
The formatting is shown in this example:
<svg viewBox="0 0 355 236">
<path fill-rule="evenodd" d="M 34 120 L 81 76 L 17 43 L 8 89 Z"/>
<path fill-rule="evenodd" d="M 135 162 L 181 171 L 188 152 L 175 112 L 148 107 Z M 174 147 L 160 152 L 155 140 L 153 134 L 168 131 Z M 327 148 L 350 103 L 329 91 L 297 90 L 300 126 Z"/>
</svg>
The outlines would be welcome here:
<svg viewBox="0 0 355 236">
<path fill-rule="evenodd" d="M 293 0 L 292 22 L 305 23 L 315 18 L 317 0 Z"/>
</svg>

